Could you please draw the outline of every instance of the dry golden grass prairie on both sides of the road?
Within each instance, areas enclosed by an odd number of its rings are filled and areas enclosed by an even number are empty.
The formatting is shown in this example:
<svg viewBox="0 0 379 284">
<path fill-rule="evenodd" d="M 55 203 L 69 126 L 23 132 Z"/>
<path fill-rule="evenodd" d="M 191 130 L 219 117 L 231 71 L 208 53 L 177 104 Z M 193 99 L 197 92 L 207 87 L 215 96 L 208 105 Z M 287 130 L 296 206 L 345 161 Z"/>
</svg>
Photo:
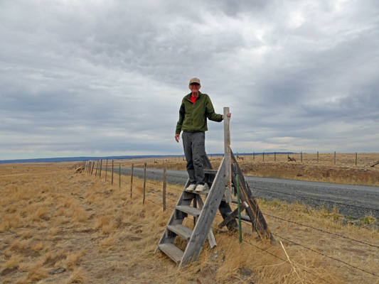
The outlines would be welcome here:
<svg viewBox="0 0 379 284">
<path fill-rule="evenodd" d="M 250 158 L 238 160 L 247 175 L 258 164 L 257 156 Z M 220 159 L 210 160 L 217 168 Z M 314 167 L 296 160 L 259 165 Z M 124 160 L 122 165 L 145 162 L 150 168 L 176 169 L 184 163 L 168 158 Z M 199 261 L 178 271 L 155 250 L 183 188 L 167 186 L 164 211 L 160 182 L 146 182 L 143 202 L 143 180 L 134 177 L 131 191 L 129 176 L 112 185 L 110 173 L 105 180 L 105 173 L 101 178 L 95 171 L 75 173 L 73 165 L 0 165 L 1 283 L 379 283 L 378 229 L 346 225 L 336 217 L 338 212 L 264 200 L 257 202 L 277 244 L 260 240 L 246 223 L 239 244 L 237 232 L 218 229 L 222 218 L 216 215 L 218 245 L 210 249 L 206 241 Z M 339 167 L 338 172 L 364 167 L 325 166 Z M 377 169 L 372 171 L 378 177 Z M 296 175 L 307 176 L 311 173 Z M 365 183 L 363 178 L 359 182 Z M 192 220 L 186 225 L 193 226 Z"/>
</svg>

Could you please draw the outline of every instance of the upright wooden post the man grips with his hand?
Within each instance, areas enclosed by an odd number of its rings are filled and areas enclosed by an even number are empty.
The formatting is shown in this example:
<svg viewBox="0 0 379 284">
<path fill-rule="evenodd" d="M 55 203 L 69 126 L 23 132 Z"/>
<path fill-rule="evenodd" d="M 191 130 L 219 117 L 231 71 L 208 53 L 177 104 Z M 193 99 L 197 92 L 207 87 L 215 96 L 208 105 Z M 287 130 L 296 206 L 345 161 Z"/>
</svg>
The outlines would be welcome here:
<svg viewBox="0 0 379 284">
<path fill-rule="evenodd" d="M 224 159 L 225 159 L 225 191 L 226 202 L 232 202 L 232 164 L 230 163 L 230 118 L 227 114 L 230 112 L 228 107 L 224 107 Z"/>
</svg>

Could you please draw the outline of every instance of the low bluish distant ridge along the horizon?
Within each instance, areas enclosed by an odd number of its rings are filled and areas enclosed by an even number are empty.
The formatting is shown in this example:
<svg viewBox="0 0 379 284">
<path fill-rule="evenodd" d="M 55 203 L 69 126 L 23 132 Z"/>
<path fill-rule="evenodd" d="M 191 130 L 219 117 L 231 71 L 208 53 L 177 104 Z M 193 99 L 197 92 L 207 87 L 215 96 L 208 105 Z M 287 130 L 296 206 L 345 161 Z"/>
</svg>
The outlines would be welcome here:
<svg viewBox="0 0 379 284">
<path fill-rule="evenodd" d="M 293 152 L 276 152 L 277 154 L 294 154 Z M 238 155 L 253 155 L 253 153 L 236 153 Z M 254 155 L 262 155 L 254 153 Z M 208 154 L 208 156 L 223 155 L 223 153 Z M 265 155 L 274 155 L 274 152 L 267 152 Z M 17 160 L 0 160 L 0 164 L 11 163 L 59 163 L 59 162 L 78 162 L 85 160 L 120 160 L 136 158 L 163 158 L 163 157 L 183 157 L 183 155 L 112 155 L 107 157 L 68 157 L 68 158 L 35 158 L 35 159 L 17 159 Z"/>
</svg>

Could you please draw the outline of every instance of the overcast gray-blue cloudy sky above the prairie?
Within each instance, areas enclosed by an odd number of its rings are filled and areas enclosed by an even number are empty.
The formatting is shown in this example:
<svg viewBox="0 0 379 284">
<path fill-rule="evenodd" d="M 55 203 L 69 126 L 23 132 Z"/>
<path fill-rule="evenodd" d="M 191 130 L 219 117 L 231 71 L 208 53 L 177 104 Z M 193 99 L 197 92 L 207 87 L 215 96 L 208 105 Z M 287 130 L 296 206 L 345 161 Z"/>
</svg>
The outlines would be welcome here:
<svg viewBox="0 0 379 284">
<path fill-rule="evenodd" d="M 378 152 L 379 2 L 1 0 L 0 160 L 182 154 L 191 77 L 234 152 Z"/>
</svg>

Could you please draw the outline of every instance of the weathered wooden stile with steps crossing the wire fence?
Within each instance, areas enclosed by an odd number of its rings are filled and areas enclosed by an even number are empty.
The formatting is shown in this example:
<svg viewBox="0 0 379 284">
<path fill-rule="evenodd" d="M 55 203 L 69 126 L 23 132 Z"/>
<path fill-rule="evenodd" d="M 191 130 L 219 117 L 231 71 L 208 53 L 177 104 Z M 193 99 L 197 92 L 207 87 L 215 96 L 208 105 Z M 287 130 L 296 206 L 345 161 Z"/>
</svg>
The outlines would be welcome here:
<svg viewBox="0 0 379 284">
<path fill-rule="evenodd" d="M 229 112 L 229 109 L 224 108 L 224 117 L 226 113 L 228 113 L 225 111 Z M 226 121 L 224 120 L 224 126 L 225 124 Z M 229 132 L 228 127 L 224 127 L 224 131 Z M 235 203 L 235 200 L 231 198 L 229 190 L 233 185 L 236 188 L 237 175 L 239 175 L 241 179 L 240 197 L 242 204 L 240 205 L 240 209 L 241 211 L 245 209 L 247 212 L 247 215 L 242 215 L 241 219 L 251 222 L 252 231 L 257 231 L 261 239 L 268 240 L 273 244 L 275 243 L 265 218 L 255 198 L 252 196 L 252 192 L 230 149 L 230 134 L 225 133 L 224 138 L 225 155 L 218 170 L 213 170 L 208 156 L 205 155 L 205 180 L 210 186 L 210 189 L 204 192 L 186 191 L 186 187 L 190 184 L 189 179 L 187 180 L 181 197 L 179 197 L 174 212 L 172 212 L 166 229 L 156 247 L 156 252 L 161 251 L 166 253 L 167 256 L 178 264 L 178 268 L 186 266 L 186 264 L 191 261 L 198 260 L 207 238 L 210 247 L 216 246 L 211 226 L 217 211 L 220 212 L 224 219 L 219 225 L 220 227 L 227 226 L 230 230 L 238 230 L 238 224 L 235 220 L 236 213 L 235 211 L 233 212 L 230 207 L 230 202 Z M 228 168 L 230 168 L 230 170 L 228 170 Z M 230 178 L 228 178 L 228 175 L 230 175 Z M 205 196 L 205 202 L 203 202 L 202 196 Z M 196 208 L 196 205 L 198 205 L 199 208 Z M 196 221 L 193 230 L 183 226 L 184 219 L 187 218 L 188 215 L 193 217 L 194 222 Z M 177 236 L 186 240 L 186 249 L 184 251 L 178 249 L 174 244 Z"/>
</svg>

